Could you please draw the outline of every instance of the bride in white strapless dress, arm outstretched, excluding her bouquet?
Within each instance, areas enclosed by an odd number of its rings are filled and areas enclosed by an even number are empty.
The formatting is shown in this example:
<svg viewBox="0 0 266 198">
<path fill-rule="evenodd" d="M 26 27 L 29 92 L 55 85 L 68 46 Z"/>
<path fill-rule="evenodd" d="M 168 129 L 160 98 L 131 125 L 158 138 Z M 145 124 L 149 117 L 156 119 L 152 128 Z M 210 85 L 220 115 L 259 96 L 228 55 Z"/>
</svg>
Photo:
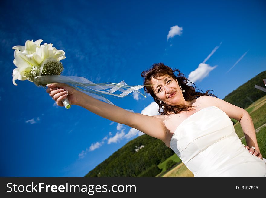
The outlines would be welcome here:
<svg viewBox="0 0 266 198">
<path fill-rule="evenodd" d="M 68 97 L 71 105 L 82 106 L 162 140 L 195 177 L 266 176 L 266 159 L 260 153 L 247 111 L 208 93 L 210 90 L 196 92 L 179 70 L 173 71 L 163 63 L 153 64 L 141 76 L 145 92 L 159 105 L 160 115 L 129 112 L 61 83 L 47 85 L 47 93 L 58 106 L 63 106 L 62 100 Z M 240 122 L 246 147 L 235 133 L 230 118 Z"/>
</svg>

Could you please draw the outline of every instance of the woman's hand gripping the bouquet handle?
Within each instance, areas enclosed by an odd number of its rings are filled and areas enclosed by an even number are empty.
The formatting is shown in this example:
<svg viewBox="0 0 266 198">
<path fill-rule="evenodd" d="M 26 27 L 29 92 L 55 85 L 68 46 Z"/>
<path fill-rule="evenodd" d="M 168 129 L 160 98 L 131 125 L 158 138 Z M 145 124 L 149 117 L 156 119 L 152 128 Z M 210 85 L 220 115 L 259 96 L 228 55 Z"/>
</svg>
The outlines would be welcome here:
<svg viewBox="0 0 266 198">
<path fill-rule="evenodd" d="M 49 93 L 60 107 L 63 107 L 62 100 L 67 97 L 70 105 L 76 105 L 78 103 L 78 91 L 66 84 L 53 83 L 46 85 L 48 88 L 46 92 Z"/>
</svg>

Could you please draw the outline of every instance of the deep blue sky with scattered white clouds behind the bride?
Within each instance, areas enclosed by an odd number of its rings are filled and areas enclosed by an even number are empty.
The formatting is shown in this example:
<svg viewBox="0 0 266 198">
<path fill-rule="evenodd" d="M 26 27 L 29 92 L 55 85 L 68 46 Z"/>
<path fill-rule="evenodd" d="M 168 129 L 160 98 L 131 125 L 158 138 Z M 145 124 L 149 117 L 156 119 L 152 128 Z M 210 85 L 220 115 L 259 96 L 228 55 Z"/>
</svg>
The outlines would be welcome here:
<svg viewBox="0 0 266 198">
<path fill-rule="evenodd" d="M 43 39 L 64 50 L 63 75 L 142 85 L 141 72 L 163 62 L 220 99 L 266 69 L 265 1 L 0 5 L 0 176 L 84 176 L 142 134 L 79 106 L 57 107 L 29 81 L 14 86 L 12 47 L 26 40 Z M 174 26 L 182 31 L 168 36 Z M 150 96 L 134 96 L 109 99 L 134 112 L 156 112 Z"/>
</svg>

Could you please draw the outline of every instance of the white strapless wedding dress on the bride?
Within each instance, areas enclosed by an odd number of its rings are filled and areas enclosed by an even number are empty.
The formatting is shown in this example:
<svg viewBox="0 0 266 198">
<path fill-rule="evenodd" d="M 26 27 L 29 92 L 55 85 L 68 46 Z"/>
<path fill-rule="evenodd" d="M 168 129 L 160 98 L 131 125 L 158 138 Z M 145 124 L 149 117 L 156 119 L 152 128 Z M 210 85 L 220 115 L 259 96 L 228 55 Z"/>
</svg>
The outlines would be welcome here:
<svg viewBox="0 0 266 198">
<path fill-rule="evenodd" d="M 245 149 L 231 119 L 216 106 L 190 115 L 170 147 L 195 177 L 265 177 L 266 159 Z"/>
</svg>

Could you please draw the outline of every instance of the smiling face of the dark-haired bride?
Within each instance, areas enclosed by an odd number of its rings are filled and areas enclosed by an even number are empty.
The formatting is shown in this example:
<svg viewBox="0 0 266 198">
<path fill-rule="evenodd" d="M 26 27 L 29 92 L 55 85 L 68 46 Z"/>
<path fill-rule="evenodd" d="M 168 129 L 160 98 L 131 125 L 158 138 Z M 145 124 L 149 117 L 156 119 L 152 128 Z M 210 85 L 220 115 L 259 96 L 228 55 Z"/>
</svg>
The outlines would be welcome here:
<svg viewBox="0 0 266 198">
<path fill-rule="evenodd" d="M 152 89 L 155 95 L 164 103 L 174 106 L 184 102 L 184 97 L 177 80 L 169 75 L 161 76 L 158 80 L 151 78 L 151 83 L 153 84 Z"/>
</svg>

